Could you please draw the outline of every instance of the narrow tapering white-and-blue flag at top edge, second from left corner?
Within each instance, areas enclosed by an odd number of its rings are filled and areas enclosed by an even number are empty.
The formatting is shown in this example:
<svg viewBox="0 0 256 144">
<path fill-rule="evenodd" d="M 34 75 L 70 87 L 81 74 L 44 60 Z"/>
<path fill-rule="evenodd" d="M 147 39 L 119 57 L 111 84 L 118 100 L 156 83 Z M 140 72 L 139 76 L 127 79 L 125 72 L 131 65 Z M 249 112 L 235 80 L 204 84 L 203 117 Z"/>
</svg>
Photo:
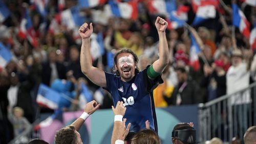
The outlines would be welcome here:
<svg viewBox="0 0 256 144">
<path fill-rule="evenodd" d="M 36 10 L 43 17 L 47 16 L 47 4 L 49 0 L 31 0 L 31 4 L 36 7 Z"/>
</svg>

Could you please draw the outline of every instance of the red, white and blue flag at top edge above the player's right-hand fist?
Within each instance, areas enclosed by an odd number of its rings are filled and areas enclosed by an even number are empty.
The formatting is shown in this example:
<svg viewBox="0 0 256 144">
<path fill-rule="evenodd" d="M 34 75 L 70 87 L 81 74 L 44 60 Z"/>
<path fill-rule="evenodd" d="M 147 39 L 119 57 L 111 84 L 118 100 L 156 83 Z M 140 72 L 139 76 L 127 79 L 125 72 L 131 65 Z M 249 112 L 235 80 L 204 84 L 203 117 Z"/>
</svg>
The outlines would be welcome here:
<svg viewBox="0 0 256 144">
<path fill-rule="evenodd" d="M 175 0 L 151 0 L 147 3 L 148 11 L 155 14 L 170 15 L 172 11 L 176 11 Z"/>
</svg>

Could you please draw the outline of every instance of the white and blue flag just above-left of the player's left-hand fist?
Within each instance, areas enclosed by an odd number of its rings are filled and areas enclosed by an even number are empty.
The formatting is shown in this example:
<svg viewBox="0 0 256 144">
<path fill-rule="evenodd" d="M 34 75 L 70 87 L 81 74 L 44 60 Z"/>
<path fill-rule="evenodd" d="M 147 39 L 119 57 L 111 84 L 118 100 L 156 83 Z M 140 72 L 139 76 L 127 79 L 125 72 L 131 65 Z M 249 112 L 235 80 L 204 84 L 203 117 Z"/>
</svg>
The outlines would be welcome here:
<svg viewBox="0 0 256 144">
<path fill-rule="evenodd" d="M 69 30 L 73 30 L 76 27 L 80 27 L 84 22 L 84 17 L 80 15 L 78 6 L 64 10 L 60 14 L 61 23 Z"/>
</svg>

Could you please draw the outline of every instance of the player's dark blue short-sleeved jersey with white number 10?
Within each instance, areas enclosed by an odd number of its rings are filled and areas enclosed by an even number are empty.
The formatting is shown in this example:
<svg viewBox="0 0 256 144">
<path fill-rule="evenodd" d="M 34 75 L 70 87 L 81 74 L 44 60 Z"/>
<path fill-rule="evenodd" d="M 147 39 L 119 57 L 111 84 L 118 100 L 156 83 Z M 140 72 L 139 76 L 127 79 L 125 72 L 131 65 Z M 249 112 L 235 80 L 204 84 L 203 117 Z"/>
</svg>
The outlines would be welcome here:
<svg viewBox="0 0 256 144">
<path fill-rule="evenodd" d="M 150 128 L 157 132 L 153 89 L 163 81 L 161 76 L 155 80 L 148 78 L 147 68 L 136 74 L 129 82 L 121 81 L 115 74 L 105 73 L 105 89 L 111 93 L 115 107 L 117 101 L 123 101 L 126 105 L 124 118 L 127 118 L 126 125 L 132 123 L 130 131 L 133 132 L 145 129 L 146 120 L 150 122 Z"/>
</svg>

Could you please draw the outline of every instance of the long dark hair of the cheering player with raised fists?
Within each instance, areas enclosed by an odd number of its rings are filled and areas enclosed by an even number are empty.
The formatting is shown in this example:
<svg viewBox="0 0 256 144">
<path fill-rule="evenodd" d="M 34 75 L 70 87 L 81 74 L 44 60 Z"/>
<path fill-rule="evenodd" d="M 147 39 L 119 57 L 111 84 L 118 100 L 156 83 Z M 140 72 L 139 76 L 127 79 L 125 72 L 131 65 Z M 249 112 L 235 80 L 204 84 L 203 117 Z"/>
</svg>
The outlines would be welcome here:
<svg viewBox="0 0 256 144">
<path fill-rule="evenodd" d="M 119 54 L 122 54 L 122 53 L 129 53 L 129 54 L 132 54 L 132 55 L 133 55 L 133 60 L 134 60 L 134 62 L 135 62 L 136 65 L 138 65 L 138 61 L 139 61 L 137 55 L 136 55 L 132 50 L 127 49 L 126 47 L 123 47 L 123 48 L 119 49 L 119 50 L 116 52 L 116 54 L 115 54 L 115 57 L 114 57 L 114 65 L 113 65 L 113 71 L 114 71 L 114 73 L 115 73 L 117 76 L 120 76 L 120 75 L 119 75 L 118 70 L 115 69 L 115 64 L 117 65 L 117 56 L 118 56 Z M 140 71 L 140 70 L 139 70 L 138 66 L 136 66 L 136 68 L 135 68 L 135 75 L 138 74 L 139 71 Z"/>
</svg>

